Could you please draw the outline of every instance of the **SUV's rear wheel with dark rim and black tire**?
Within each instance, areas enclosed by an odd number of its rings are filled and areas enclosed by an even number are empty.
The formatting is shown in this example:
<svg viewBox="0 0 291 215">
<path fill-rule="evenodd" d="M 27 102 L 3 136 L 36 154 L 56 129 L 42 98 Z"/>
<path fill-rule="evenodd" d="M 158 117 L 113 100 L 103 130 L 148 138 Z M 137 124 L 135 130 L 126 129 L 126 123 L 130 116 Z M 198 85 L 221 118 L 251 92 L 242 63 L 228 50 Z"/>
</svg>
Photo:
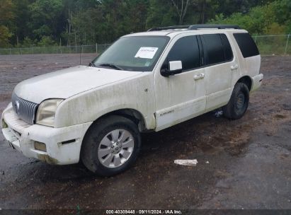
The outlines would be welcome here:
<svg viewBox="0 0 291 215">
<path fill-rule="evenodd" d="M 244 83 L 236 83 L 229 103 L 222 107 L 225 117 L 231 120 L 240 119 L 249 107 L 249 88 Z"/>
</svg>

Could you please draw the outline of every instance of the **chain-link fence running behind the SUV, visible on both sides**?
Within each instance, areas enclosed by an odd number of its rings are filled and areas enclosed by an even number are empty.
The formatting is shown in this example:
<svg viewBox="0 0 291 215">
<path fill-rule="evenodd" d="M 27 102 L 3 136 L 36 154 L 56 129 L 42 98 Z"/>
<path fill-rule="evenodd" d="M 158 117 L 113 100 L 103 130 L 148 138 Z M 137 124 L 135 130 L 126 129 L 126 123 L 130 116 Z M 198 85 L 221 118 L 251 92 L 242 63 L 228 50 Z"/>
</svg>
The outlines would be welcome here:
<svg viewBox="0 0 291 215">
<path fill-rule="evenodd" d="M 291 35 L 253 35 L 261 55 L 291 54 Z M 29 47 L 0 49 L 0 54 L 78 54 L 102 53 L 110 44 L 62 46 L 62 47 Z"/>
</svg>

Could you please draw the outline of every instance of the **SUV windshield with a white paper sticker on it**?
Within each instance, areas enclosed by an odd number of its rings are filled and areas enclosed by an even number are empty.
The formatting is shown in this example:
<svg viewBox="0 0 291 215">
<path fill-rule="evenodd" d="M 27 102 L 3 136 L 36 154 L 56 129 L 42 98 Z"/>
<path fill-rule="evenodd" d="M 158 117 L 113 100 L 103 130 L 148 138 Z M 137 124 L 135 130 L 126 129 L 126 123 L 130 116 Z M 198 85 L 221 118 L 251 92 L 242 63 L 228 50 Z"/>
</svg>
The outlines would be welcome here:
<svg viewBox="0 0 291 215">
<path fill-rule="evenodd" d="M 152 71 L 169 37 L 121 37 L 93 60 L 93 66 L 127 71 Z"/>
</svg>

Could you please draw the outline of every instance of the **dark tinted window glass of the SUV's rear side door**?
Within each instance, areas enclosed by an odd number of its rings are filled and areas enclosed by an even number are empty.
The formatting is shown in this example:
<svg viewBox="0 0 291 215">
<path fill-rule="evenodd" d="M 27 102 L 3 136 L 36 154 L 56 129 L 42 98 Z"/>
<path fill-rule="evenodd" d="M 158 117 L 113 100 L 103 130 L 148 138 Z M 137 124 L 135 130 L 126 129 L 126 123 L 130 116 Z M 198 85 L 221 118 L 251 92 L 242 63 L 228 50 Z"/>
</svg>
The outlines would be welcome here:
<svg viewBox="0 0 291 215">
<path fill-rule="evenodd" d="M 219 34 L 201 35 L 205 52 L 205 64 L 224 62 L 224 48 Z"/>
</svg>

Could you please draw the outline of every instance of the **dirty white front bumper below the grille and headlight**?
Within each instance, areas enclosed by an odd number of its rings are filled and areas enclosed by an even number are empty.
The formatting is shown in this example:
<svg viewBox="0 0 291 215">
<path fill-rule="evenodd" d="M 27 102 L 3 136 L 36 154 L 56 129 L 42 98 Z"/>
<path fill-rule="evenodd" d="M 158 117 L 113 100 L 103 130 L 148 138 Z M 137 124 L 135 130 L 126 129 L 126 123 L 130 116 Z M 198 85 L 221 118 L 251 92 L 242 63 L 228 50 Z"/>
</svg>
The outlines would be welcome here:
<svg viewBox="0 0 291 215">
<path fill-rule="evenodd" d="M 79 162 L 81 143 L 91 124 L 62 128 L 31 125 L 20 120 L 11 105 L 4 110 L 1 118 L 2 132 L 10 146 L 28 158 L 56 165 Z M 46 151 L 35 149 L 35 142 L 45 144 Z"/>
</svg>

